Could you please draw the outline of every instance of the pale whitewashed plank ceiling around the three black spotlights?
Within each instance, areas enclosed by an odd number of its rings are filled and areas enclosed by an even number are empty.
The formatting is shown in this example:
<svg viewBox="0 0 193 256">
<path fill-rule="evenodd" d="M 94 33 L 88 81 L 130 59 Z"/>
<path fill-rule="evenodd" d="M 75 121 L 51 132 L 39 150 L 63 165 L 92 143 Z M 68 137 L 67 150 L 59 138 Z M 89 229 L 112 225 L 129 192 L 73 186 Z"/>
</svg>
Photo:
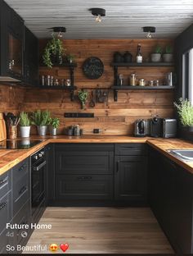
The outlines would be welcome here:
<svg viewBox="0 0 193 256">
<path fill-rule="evenodd" d="M 38 38 L 65 26 L 66 39 L 144 38 L 141 27 L 156 27 L 154 38 L 175 38 L 193 22 L 193 0 L 6 0 Z M 105 8 L 96 23 L 92 7 Z"/>
</svg>

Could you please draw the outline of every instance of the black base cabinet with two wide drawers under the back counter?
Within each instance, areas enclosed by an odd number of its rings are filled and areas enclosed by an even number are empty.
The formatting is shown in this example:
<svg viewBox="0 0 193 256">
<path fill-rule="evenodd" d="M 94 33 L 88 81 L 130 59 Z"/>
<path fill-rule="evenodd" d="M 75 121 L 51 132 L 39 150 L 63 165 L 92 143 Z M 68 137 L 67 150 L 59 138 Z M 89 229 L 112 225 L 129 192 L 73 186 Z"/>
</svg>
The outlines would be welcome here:
<svg viewBox="0 0 193 256">
<path fill-rule="evenodd" d="M 56 144 L 55 161 L 56 200 L 114 199 L 114 144 Z"/>
</svg>

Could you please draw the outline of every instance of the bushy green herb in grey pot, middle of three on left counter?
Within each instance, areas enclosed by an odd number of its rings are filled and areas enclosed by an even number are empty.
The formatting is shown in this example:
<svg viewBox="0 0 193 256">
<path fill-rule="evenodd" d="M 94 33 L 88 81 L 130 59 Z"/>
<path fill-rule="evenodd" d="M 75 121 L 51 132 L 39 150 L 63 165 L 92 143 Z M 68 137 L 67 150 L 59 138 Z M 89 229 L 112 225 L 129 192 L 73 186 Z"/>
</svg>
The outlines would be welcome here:
<svg viewBox="0 0 193 256">
<path fill-rule="evenodd" d="M 50 112 L 37 110 L 32 115 L 32 124 L 37 126 L 38 135 L 45 136 L 47 134 L 47 125 L 50 118 Z"/>
</svg>

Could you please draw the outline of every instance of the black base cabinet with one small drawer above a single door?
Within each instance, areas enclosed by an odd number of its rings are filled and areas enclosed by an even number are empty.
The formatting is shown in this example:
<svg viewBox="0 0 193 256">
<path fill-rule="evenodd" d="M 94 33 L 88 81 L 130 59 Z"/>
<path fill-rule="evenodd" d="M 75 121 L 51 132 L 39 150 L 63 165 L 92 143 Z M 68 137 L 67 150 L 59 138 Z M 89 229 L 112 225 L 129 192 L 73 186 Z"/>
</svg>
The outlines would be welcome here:
<svg viewBox="0 0 193 256">
<path fill-rule="evenodd" d="M 146 144 L 115 144 L 114 194 L 124 203 L 146 204 Z"/>
</svg>

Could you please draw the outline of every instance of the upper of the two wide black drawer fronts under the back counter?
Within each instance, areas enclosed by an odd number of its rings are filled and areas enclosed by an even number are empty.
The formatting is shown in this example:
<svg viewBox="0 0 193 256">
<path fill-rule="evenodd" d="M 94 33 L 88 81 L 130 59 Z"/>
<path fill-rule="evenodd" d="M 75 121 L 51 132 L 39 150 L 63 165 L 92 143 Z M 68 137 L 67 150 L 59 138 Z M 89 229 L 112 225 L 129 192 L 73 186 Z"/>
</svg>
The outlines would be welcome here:
<svg viewBox="0 0 193 256">
<path fill-rule="evenodd" d="M 58 152 L 56 173 L 60 174 L 113 174 L 113 152 Z"/>
</svg>

